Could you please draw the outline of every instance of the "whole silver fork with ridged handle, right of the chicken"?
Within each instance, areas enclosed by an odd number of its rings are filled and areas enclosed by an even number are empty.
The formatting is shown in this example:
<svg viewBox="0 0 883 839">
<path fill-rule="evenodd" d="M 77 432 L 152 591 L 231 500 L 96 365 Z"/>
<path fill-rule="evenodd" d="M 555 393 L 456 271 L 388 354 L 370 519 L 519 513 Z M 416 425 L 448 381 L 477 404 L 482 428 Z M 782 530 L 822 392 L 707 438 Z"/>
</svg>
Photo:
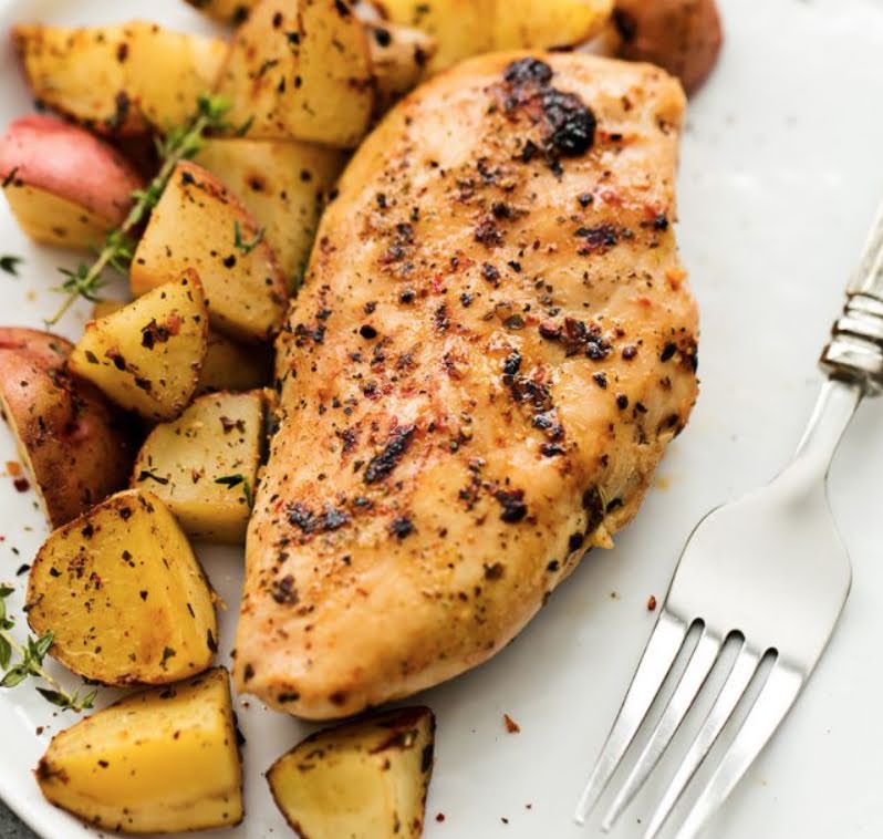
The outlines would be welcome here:
<svg viewBox="0 0 883 839">
<path fill-rule="evenodd" d="M 685 651 L 686 666 L 602 821 L 604 831 L 655 768 L 728 639 L 737 645 L 736 657 L 663 794 L 645 839 L 658 835 L 733 717 L 730 727 L 736 732 L 717 766 L 711 770 L 709 765 L 710 776 L 677 839 L 692 839 L 703 830 L 772 736 L 828 644 L 852 579 L 849 555 L 828 505 L 828 468 L 862 397 L 883 390 L 883 207 L 820 363 L 828 379 L 791 463 L 768 486 L 708 514 L 687 541 L 576 806 L 579 824 L 599 802 L 635 739 L 690 628 L 698 624 L 698 641 L 692 652 Z M 773 659 L 768 671 L 759 669 L 765 656 Z"/>
</svg>

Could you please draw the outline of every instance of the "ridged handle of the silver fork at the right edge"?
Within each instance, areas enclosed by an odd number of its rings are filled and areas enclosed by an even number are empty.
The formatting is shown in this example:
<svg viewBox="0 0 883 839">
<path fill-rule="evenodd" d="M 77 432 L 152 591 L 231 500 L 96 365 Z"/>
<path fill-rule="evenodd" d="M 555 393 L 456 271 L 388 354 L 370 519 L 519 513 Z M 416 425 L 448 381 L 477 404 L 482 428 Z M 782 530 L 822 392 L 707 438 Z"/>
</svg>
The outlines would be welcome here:
<svg viewBox="0 0 883 839">
<path fill-rule="evenodd" d="M 883 206 L 819 363 L 829 377 L 858 383 L 865 395 L 883 392 Z"/>
</svg>

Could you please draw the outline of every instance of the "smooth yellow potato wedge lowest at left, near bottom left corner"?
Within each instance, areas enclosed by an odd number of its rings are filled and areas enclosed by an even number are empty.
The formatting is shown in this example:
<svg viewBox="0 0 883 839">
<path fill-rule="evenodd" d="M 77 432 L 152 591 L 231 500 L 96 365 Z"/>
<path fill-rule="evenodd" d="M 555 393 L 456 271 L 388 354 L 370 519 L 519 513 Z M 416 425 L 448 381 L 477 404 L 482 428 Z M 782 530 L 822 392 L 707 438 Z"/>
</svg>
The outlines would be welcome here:
<svg viewBox="0 0 883 839">
<path fill-rule="evenodd" d="M 242 766 L 227 671 L 142 691 L 56 734 L 37 783 L 49 801 L 100 829 L 239 824 Z"/>
</svg>

